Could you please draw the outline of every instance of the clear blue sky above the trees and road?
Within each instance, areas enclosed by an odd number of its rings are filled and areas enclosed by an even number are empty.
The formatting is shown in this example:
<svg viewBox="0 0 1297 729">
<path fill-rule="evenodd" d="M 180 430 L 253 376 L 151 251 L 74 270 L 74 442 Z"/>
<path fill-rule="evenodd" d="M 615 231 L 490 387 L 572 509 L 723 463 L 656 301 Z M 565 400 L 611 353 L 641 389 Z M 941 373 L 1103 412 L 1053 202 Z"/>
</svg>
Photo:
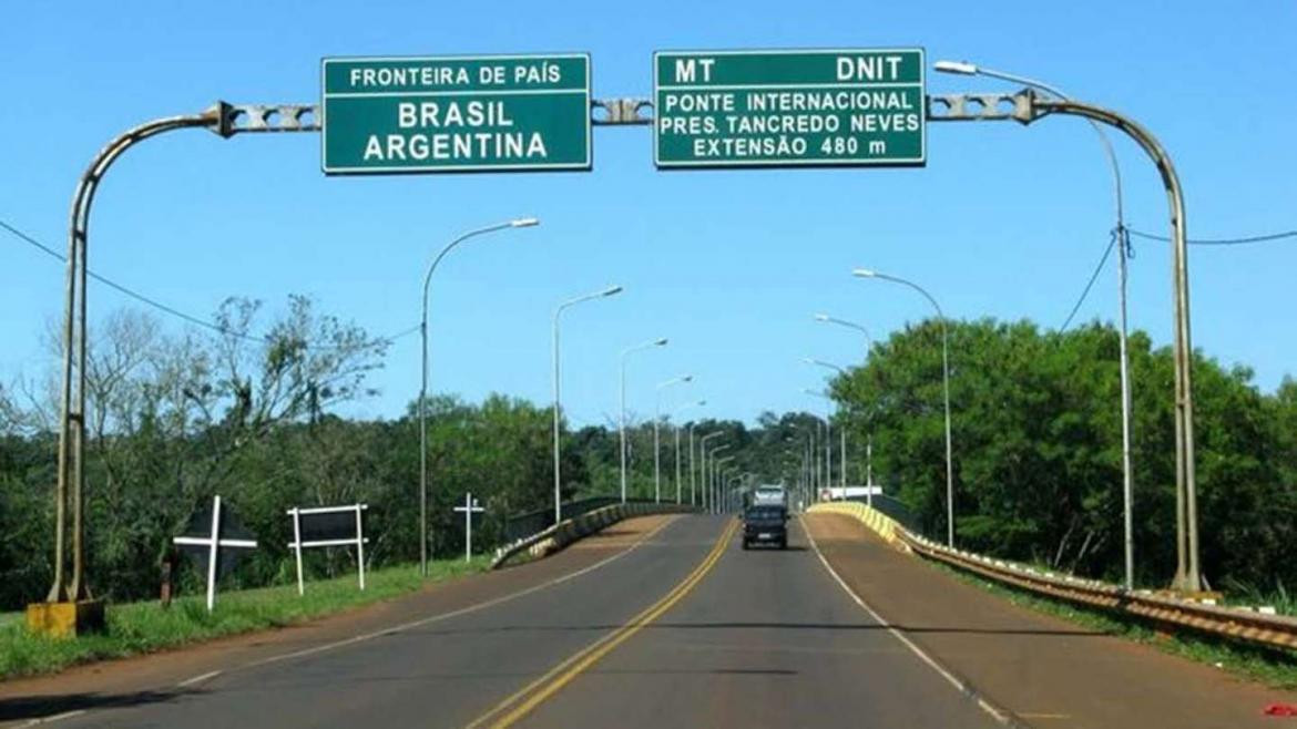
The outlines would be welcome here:
<svg viewBox="0 0 1297 729">
<path fill-rule="evenodd" d="M 311 102 L 333 54 L 585 51 L 597 97 L 648 96 L 655 49 L 922 45 L 1032 75 L 1143 121 L 1174 156 L 1192 236 L 1297 227 L 1292 53 L 1297 5 L 1227 3 L 21 3 L 0 25 L 0 218 L 58 249 L 92 154 L 141 121 L 217 99 Z M 930 75 L 930 92 L 1008 88 Z M 1130 223 L 1166 231 L 1162 187 L 1118 141 Z M 175 307 L 210 314 L 230 294 L 281 309 L 318 298 L 375 333 L 418 320 L 422 269 L 459 231 L 532 214 L 540 228 L 480 240 L 433 284 L 433 387 L 546 401 L 549 323 L 562 298 L 619 283 L 572 310 L 565 407 L 616 411 L 616 353 L 648 337 L 630 405 L 694 374 L 709 414 L 820 409 L 802 394 L 813 355 L 859 358 L 927 315 L 916 294 L 850 276 L 872 266 L 921 281 L 952 317 L 1066 317 L 1112 226 L 1110 183 L 1078 119 L 931 125 L 912 170 L 673 171 L 652 167 L 646 127 L 597 128 L 594 171 L 326 178 L 315 135 L 173 134 L 131 150 L 96 201 L 91 267 Z M 62 269 L 0 231 L 0 381 L 40 376 L 61 314 Z M 1171 337 L 1170 257 L 1139 241 L 1134 324 Z M 1297 355 L 1297 244 L 1191 252 L 1195 345 L 1255 368 L 1272 389 Z M 92 315 L 130 305 L 92 284 Z M 1105 271 L 1083 319 L 1113 318 Z M 179 324 L 173 324 L 176 328 Z M 392 416 L 418 389 L 418 337 L 353 414 Z M 672 393 L 682 401 L 684 389 Z"/>
</svg>

